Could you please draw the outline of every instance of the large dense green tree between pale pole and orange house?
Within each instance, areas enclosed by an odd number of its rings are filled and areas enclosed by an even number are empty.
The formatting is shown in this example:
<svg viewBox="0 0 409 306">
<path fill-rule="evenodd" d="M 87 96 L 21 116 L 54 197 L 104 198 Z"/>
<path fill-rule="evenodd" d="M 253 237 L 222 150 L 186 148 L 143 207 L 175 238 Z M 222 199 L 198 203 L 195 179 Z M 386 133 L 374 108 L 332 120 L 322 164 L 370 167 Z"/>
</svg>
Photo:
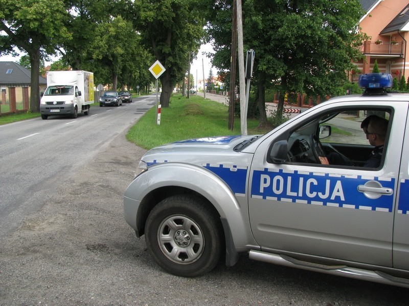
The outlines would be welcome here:
<svg viewBox="0 0 409 306">
<path fill-rule="evenodd" d="M 347 80 L 346 71 L 352 69 L 351 59 L 362 56 L 356 46 L 366 37 L 358 28 L 362 15 L 358 0 L 246 0 L 243 7 L 244 49 L 252 48 L 256 53 L 254 84 L 259 87 L 260 112 L 265 112 L 264 86 L 272 86 L 282 93 L 277 117 L 283 115 L 284 93 L 341 92 Z M 228 16 L 223 10 L 220 14 Z M 218 44 L 221 36 L 220 47 L 228 46 L 228 35 L 223 36 L 218 29 L 225 29 L 221 23 L 231 22 L 231 18 L 217 20 L 212 38 Z M 220 47 L 215 49 L 215 58 L 221 52 Z M 223 50 L 223 55 L 223 63 L 228 62 L 230 54 Z"/>
</svg>

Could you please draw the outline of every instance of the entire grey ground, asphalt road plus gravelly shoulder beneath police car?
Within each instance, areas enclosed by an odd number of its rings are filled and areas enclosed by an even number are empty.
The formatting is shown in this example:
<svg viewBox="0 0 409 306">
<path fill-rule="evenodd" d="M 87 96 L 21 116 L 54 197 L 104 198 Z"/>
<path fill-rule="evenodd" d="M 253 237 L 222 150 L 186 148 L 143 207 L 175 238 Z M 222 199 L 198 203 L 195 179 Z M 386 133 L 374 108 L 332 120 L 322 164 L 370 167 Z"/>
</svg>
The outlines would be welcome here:
<svg viewBox="0 0 409 306">
<path fill-rule="evenodd" d="M 161 270 L 123 218 L 123 193 L 145 152 L 125 134 L 151 106 L 0 127 L 0 305 L 407 305 L 407 289 L 246 254 L 196 278 Z"/>
</svg>

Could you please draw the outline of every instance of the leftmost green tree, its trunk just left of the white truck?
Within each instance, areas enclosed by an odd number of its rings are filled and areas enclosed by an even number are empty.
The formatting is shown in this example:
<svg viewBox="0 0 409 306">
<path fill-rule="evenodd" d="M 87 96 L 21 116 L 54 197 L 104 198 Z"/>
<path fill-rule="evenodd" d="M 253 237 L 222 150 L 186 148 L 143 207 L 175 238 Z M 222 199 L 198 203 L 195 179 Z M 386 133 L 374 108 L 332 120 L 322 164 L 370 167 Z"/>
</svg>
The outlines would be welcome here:
<svg viewBox="0 0 409 306">
<path fill-rule="evenodd" d="M 0 53 L 17 48 L 28 54 L 31 66 L 30 109 L 39 112 L 40 60 L 55 53 L 56 46 L 70 37 L 62 0 L 0 0 Z"/>
</svg>

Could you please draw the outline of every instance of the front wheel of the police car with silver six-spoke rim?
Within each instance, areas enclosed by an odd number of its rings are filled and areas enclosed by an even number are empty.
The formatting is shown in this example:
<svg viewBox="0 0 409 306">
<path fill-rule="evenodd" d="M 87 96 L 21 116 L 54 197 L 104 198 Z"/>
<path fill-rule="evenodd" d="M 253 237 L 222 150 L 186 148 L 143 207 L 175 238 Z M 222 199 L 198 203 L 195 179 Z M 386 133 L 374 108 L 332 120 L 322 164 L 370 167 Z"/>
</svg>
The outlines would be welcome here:
<svg viewBox="0 0 409 306">
<path fill-rule="evenodd" d="M 211 271 L 222 249 L 219 217 L 205 200 L 171 196 L 150 212 L 145 240 L 151 256 L 167 272 L 184 277 Z"/>
</svg>

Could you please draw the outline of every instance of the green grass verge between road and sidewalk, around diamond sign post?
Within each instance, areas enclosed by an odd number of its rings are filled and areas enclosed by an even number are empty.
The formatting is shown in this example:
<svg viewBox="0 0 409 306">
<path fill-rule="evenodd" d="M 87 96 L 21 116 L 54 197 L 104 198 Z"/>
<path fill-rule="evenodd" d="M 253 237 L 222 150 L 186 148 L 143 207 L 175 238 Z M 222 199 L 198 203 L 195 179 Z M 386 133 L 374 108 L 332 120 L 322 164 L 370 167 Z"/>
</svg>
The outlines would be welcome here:
<svg viewBox="0 0 409 306">
<path fill-rule="evenodd" d="M 151 108 L 131 127 L 126 138 L 138 146 L 152 147 L 191 138 L 222 135 L 240 135 L 240 118 L 234 120 L 234 131 L 228 129 L 228 107 L 205 100 L 200 96 L 190 99 L 181 94 L 172 95 L 168 108 L 162 108 L 161 124 L 156 124 L 156 109 Z M 264 134 L 270 130 L 258 129 L 259 120 L 247 120 L 247 134 Z"/>
</svg>

